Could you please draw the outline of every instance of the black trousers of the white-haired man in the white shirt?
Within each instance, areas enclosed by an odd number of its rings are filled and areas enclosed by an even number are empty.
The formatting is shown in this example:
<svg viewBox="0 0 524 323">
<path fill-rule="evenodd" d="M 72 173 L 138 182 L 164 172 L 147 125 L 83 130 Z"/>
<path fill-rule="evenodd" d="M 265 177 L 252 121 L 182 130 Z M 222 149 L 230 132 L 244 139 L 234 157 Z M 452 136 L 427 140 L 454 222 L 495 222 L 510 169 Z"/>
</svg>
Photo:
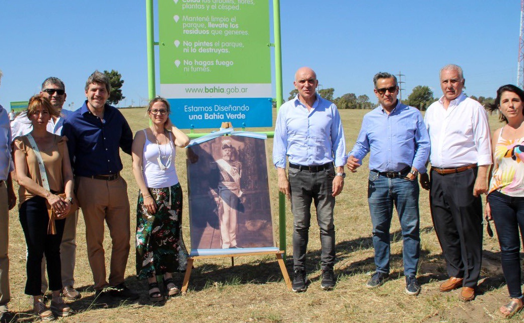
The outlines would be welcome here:
<svg viewBox="0 0 524 323">
<path fill-rule="evenodd" d="M 433 226 L 446 259 L 447 274 L 475 287 L 482 265 L 482 200 L 473 196 L 477 169 L 441 175 L 431 171 Z"/>
</svg>

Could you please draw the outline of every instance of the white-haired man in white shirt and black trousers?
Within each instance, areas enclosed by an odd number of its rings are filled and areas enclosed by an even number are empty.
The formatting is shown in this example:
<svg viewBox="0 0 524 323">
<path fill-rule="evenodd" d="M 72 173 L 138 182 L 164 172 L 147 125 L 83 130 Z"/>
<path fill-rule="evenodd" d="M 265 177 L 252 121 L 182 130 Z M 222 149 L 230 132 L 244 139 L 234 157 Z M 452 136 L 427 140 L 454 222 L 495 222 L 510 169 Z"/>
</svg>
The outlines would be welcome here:
<svg viewBox="0 0 524 323">
<path fill-rule="evenodd" d="M 487 112 L 467 98 L 462 68 L 440 70 L 444 95 L 426 111 L 424 123 L 431 140 L 431 180 L 420 183 L 430 190 L 433 226 L 450 276 L 440 285 L 446 292 L 462 286 L 460 299 L 475 298 L 482 263 L 482 200 L 487 171 L 492 163 Z"/>
</svg>

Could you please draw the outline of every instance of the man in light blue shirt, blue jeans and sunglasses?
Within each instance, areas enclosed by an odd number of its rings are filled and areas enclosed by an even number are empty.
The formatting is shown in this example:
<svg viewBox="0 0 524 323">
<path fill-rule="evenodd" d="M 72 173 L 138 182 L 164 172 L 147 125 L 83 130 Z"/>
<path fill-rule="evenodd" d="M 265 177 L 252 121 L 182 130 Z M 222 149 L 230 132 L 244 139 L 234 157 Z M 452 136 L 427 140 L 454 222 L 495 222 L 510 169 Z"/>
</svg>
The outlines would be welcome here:
<svg viewBox="0 0 524 323">
<path fill-rule="evenodd" d="M 380 106 L 364 116 L 355 147 L 347 158 L 347 168 L 356 172 L 362 159 L 371 152 L 367 196 L 377 269 L 366 286 L 379 287 L 389 278 L 389 227 L 395 205 L 402 230 L 406 293 L 418 295 L 420 218 L 417 174 L 426 171 L 429 135 L 420 111 L 397 100 L 399 88 L 394 75 L 379 72 L 373 82 Z"/>
</svg>

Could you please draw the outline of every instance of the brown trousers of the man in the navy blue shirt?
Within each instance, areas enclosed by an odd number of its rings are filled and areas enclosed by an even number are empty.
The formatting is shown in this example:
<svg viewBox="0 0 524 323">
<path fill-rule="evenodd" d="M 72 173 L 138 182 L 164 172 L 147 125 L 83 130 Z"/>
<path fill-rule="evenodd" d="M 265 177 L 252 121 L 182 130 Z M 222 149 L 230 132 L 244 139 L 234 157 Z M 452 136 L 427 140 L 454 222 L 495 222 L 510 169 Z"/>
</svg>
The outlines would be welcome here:
<svg viewBox="0 0 524 323">
<path fill-rule="evenodd" d="M 84 214 L 85 235 L 89 265 L 93 272 L 94 288 L 100 290 L 124 282 L 129 256 L 129 200 L 127 183 L 119 177 L 115 181 L 95 180 L 78 176 L 77 197 Z M 106 280 L 104 220 L 111 236 L 111 263 L 109 282 Z"/>
</svg>

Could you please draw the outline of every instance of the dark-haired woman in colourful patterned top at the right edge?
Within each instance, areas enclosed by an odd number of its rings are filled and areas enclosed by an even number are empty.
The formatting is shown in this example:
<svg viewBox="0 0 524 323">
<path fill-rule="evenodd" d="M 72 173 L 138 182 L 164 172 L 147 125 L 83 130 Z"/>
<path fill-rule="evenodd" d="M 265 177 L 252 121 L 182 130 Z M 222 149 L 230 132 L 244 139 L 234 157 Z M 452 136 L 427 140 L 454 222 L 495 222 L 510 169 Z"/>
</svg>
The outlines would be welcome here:
<svg viewBox="0 0 524 323">
<path fill-rule="evenodd" d="M 524 91 L 514 85 L 501 86 L 490 111 L 498 110 L 506 123 L 492 138 L 493 161 L 486 219 L 495 222 L 500 261 L 510 301 L 500 313 L 510 318 L 522 309 L 520 288 L 520 241 L 524 230 Z M 523 240 L 524 241 L 524 240 Z"/>
</svg>

